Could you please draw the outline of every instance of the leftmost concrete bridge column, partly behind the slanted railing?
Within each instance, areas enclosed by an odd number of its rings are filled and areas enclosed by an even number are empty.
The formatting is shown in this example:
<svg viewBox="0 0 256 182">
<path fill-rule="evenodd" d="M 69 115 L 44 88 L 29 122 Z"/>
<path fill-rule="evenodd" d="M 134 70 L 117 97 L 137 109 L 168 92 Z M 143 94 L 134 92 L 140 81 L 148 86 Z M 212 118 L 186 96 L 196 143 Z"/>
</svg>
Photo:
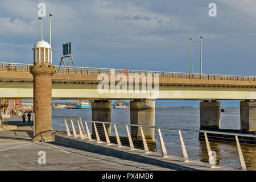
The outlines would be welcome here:
<svg viewBox="0 0 256 182">
<path fill-rule="evenodd" d="M 92 121 L 111 122 L 111 102 L 97 101 L 92 102 Z M 96 123 L 97 131 L 100 137 L 105 138 L 104 127 L 101 123 Z M 106 125 L 108 135 L 111 135 L 111 126 Z M 94 126 L 92 125 L 92 134 L 95 135 Z"/>
</svg>

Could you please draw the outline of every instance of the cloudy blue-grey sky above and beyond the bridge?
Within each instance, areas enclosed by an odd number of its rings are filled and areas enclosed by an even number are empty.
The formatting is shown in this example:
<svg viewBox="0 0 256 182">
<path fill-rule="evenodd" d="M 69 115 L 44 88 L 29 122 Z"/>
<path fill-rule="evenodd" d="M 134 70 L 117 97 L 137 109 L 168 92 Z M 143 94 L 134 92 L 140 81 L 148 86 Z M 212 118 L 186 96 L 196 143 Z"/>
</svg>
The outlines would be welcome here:
<svg viewBox="0 0 256 182">
<path fill-rule="evenodd" d="M 1 62 L 33 62 L 32 47 L 41 38 L 39 3 L 46 4 L 47 42 L 53 14 L 54 65 L 60 64 L 62 44 L 72 42 L 76 66 L 188 73 L 193 38 L 193 72 L 200 73 L 200 36 L 205 36 L 203 73 L 256 76 L 255 0 L 0 0 Z M 216 3 L 217 16 L 209 16 L 209 3 Z"/>
</svg>

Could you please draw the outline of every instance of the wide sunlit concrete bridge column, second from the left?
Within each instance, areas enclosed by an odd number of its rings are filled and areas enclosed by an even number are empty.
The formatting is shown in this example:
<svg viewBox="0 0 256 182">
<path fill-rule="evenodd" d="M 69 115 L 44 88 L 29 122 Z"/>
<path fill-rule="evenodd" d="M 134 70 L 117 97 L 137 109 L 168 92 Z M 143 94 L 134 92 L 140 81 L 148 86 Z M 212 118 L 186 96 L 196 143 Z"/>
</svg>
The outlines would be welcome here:
<svg viewBox="0 0 256 182">
<path fill-rule="evenodd" d="M 134 100 L 130 102 L 130 122 L 134 125 L 155 126 L 155 101 Z M 155 138 L 155 130 L 143 127 L 146 139 Z M 131 137 L 142 138 L 141 130 L 137 126 L 131 126 Z"/>
</svg>

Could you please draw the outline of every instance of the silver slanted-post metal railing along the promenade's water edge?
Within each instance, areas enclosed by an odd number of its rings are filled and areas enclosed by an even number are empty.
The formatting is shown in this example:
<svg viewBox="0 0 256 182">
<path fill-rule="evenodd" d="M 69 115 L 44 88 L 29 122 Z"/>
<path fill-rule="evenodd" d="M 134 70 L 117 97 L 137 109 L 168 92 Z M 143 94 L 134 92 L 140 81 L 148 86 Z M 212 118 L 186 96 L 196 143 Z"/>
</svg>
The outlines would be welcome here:
<svg viewBox="0 0 256 182">
<path fill-rule="evenodd" d="M 87 124 L 88 122 L 92 123 L 92 133 L 89 131 L 89 127 Z M 70 127 L 69 123 L 71 124 L 71 129 L 69 129 L 69 127 Z M 79 130 L 76 130 L 75 123 L 77 123 L 76 126 L 78 126 Z M 85 127 L 84 127 L 83 123 L 85 124 Z M 88 139 L 89 141 L 94 140 L 97 143 L 106 142 L 106 145 L 113 144 L 110 142 L 110 137 L 109 137 L 111 134 L 111 131 L 110 131 L 110 134 L 107 131 L 107 127 L 113 125 L 115 138 L 116 138 L 116 142 L 114 142 L 114 143 L 117 144 L 117 147 L 123 147 L 123 145 L 125 145 L 125 146 L 129 146 L 130 150 L 135 150 L 135 147 L 134 147 L 135 145 L 138 146 L 139 144 L 143 144 L 142 148 L 143 148 L 145 154 L 149 153 L 150 150 L 148 149 L 148 143 L 146 142 L 146 136 L 144 135 L 144 132 L 146 132 L 148 129 L 153 129 L 153 130 L 156 129 L 157 133 L 158 133 L 158 138 L 159 138 L 160 151 L 161 151 L 163 158 L 168 157 L 168 154 L 167 154 L 167 150 L 166 150 L 166 145 L 164 144 L 161 130 L 177 131 L 177 133 L 179 134 L 180 146 L 181 146 L 181 150 L 182 150 L 182 154 L 183 154 L 183 162 L 184 163 L 189 162 L 189 158 L 188 158 L 188 153 L 187 153 L 187 150 L 185 147 L 185 143 L 184 143 L 181 131 L 191 131 L 193 133 L 203 133 L 206 147 L 207 147 L 207 155 L 208 155 L 207 162 L 209 163 L 210 168 L 214 168 L 217 166 L 216 166 L 216 162 L 214 162 L 213 152 L 211 150 L 210 142 L 208 140 L 208 134 L 209 135 L 210 134 L 232 135 L 232 136 L 234 136 L 236 144 L 237 144 L 238 156 L 239 156 L 239 160 L 240 160 L 241 169 L 243 171 L 246 171 L 247 168 L 246 168 L 245 160 L 243 159 L 243 154 L 242 154 L 239 140 L 246 140 L 246 139 L 242 139 L 242 138 L 238 139 L 238 137 L 256 138 L 256 135 L 249 135 L 249 134 L 225 133 L 225 132 L 205 131 L 205 130 L 174 129 L 174 128 L 166 128 L 166 127 L 146 126 L 146 125 L 131 125 L 131 124 L 129 125 L 129 124 L 123 124 L 123 123 L 84 121 L 84 120 L 81 120 L 81 118 L 79 118 L 79 119 L 65 118 L 64 125 L 65 125 L 65 129 L 66 129 L 68 137 Z M 129 142 L 125 142 L 124 140 L 122 140 L 122 143 L 121 143 L 121 139 L 120 139 L 120 137 L 118 135 L 118 131 L 117 131 L 117 126 L 125 126 L 126 132 L 127 132 L 127 139 Z M 129 130 L 128 126 L 130 126 L 131 131 Z M 142 142 L 134 143 L 134 141 L 132 139 L 133 136 L 131 136 L 133 133 L 132 130 L 134 130 L 134 128 L 132 128 L 132 127 L 137 127 L 137 131 L 141 135 L 140 141 L 142 140 Z M 77 132 L 79 134 L 77 134 Z M 92 134 L 94 135 L 94 139 L 92 138 Z M 212 138 L 214 138 L 213 136 L 210 136 L 210 138 L 211 138 L 211 140 L 214 141 L 214 139 L 212 139 Z M 135 142 L 136 141 L 137 140 L 135 140 Z M 216 141 L 218 141 L 218 140 L 216 140 Z M 255 156 L 253 156 L 253 158 L 254 157 Z"/>
</svg>

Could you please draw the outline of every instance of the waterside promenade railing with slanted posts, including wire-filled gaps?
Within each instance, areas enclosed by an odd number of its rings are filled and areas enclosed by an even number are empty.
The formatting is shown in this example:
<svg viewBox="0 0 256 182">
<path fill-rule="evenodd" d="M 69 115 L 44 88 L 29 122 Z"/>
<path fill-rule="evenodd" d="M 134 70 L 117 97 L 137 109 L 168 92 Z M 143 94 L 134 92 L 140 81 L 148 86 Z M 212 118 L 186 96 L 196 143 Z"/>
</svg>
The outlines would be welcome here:
<svg viewBox="0 0 256 182">
<path fill-rule="evenodd" d="M 91 125 L 88 125 L 88 123 L 91 123 Z M 81 118 L 65 118 L 64 125 L 68 137 L 86 139 L 92 142 L 105 143 L 106 145 L 115 144 L 116 147 L 126 146 L 130 147 L 130 150 L 141 148 L 144 150 L 144 154 L 159 150 L 163 158 L 167 158 L 168 153 L 174 153 L 171 155 L 180 156 L 184 163 L 191 162 L 189 158 L 198 160 L 195 155 L 200 155 L 200 161 L 209 163 L 210 168 L 223 165 L 246 171 L 246 163 L 251 164 L 255 160 L 255 144 L 240 144 L 240 142 L 245 140 L 249 143 L 255 143 L 256 135 L 84 121 Z M 114 135 L 112 135 L 113 133 Z M 156 140 L 148 137 L 147 133 L 154 133 Z M 218 146 L 218 139 L 214 134 L 221 134 L 222 139 L 231 142 L 221 142 L 221 146 Z M 204 141 L 195 143 L 195 138 L 198 140 L 200 135 Z M 193 142 L 191 142 L 191 138 L 194 138 Z M 248 138 L 251 138 L 251 140 Z M 234 146 L 232 141 L 237 144 L 237 147 Z M 190 144 L 189 147 L 188 144 Z M 224 155 L 229 155 L 229 158 L 226 159 Z M 235 164 L 232 164 L 232 162 Z"/>
</svg>

